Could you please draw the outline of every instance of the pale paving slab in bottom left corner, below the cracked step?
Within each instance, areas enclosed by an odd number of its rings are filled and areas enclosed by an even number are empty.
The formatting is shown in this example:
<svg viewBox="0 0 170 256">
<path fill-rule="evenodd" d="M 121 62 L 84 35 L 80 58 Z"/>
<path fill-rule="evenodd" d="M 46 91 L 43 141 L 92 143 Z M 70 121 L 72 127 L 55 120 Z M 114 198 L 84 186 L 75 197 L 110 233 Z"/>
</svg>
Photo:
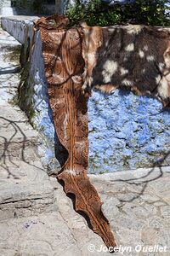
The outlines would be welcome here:
<svg viewBox="0 0 170 256">
<path fill-rule="evenodd" d="M 1 255 L 81 255 L 58 212 L 0 222 Z M 17 253 L 17 254 L 14 254 Z"/>
</svg>

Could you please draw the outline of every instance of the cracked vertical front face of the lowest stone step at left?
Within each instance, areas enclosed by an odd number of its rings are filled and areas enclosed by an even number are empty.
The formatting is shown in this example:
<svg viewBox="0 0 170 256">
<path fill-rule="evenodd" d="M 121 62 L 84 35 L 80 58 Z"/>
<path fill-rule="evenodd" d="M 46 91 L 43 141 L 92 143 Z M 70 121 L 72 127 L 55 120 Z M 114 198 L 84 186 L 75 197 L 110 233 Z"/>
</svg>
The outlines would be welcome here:
<svg viewBox="0 0 170 256">
<path fill-rule="evenodd" d="M 54 190 L 48 182 L 1 182 L 0 220 L 54 212 Z"/>
</svg>

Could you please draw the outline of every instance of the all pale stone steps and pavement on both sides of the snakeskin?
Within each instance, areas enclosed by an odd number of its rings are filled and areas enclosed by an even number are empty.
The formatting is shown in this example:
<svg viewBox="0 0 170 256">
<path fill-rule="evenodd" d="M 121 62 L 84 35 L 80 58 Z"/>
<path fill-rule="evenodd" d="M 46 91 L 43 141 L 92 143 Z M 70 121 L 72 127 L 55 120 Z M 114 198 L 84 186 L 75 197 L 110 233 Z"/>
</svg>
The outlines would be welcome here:
<svg viewBox="0 0 170 256">
<path fill-rule="evenodd" d="M 48 177 L 37 155 L 37 131 L 10 103 L 20 82 L 19 48 L 0 31 L 0 256 L 110 255 L 61 184 Z M 169 167 L 89 177 L 122 246 L 117 256 L 170 255 Z"/>
</svg>

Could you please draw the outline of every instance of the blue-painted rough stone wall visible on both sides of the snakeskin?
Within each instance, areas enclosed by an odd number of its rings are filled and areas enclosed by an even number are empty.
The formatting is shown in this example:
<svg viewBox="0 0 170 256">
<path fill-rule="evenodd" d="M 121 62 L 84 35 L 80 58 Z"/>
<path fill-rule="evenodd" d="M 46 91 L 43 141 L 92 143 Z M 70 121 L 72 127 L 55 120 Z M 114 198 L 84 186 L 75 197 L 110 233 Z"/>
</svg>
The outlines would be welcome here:
<svg viewBox="0 0 170 256">
<path fill-rule="evenodd" d="M 3 19 L 3 28 L 20 39 L 15 22 Z M 26 28 L 27 27 L 27 28 Z M 29 52 L 32 22 L 24 28 L 25 47 Z M 59 170 L 65 160 L 65 149 L 54 132 L 48 105 L 47 82 L 43 73 L 41 38 L 37 33 L 34 52 L 23 71 L 19 103 L 40 132 L 42 147 L 39 154 L 48 170 Z M 28 38 L 30 38 L 28 40 Z M 88 101 L 89 165 L 88 173 L 115 172 L 138 167 L 170 165 L 170 112 L 162 111 L 161 102 L 148 96 L 116 90 L 111 96 L 94 91 Z M 56 161 L 55 155 L 59 161 Z"/>
</svg>

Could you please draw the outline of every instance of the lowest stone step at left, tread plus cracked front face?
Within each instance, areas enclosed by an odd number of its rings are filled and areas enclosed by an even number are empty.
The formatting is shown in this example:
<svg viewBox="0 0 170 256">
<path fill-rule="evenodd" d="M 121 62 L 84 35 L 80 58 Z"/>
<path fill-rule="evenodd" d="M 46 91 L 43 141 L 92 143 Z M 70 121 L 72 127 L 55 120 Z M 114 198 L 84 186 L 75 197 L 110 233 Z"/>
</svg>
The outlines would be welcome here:
<svg viewBox="0 0 170 256">
<path fill-rule="evenodd" d="M 53 211 L 54 188 L 38 159 L 0 164 L 0 220 Z"/>
</svg>

